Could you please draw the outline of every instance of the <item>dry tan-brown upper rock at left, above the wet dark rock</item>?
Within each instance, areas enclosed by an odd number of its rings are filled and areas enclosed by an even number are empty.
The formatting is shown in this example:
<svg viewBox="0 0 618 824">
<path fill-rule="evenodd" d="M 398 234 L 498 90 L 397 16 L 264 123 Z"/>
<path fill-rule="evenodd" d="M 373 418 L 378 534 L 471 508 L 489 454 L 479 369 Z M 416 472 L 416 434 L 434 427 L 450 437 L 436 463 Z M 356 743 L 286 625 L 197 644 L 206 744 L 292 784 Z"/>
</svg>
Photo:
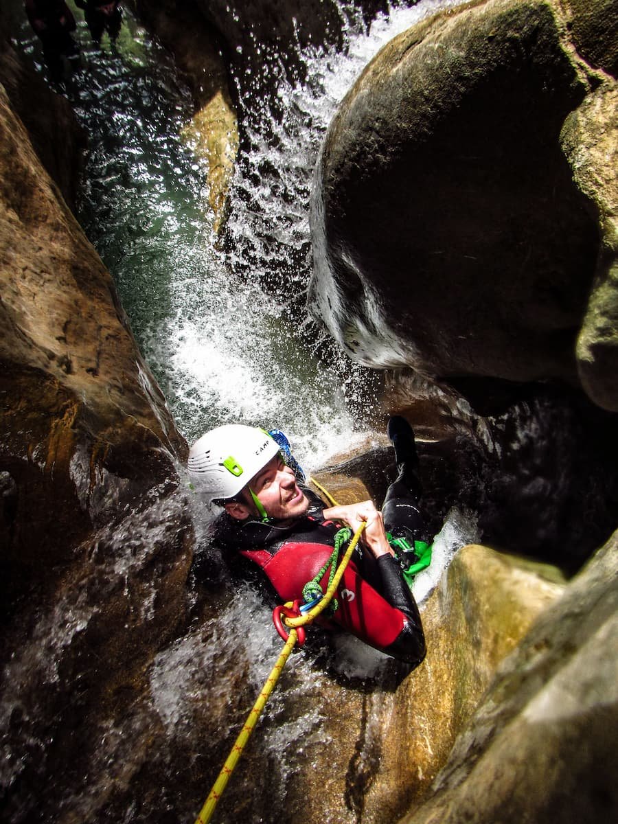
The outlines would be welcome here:
<svg viewBox="0 0 618 824">
<path fill-rule="evenodd" d="M 3 92 L 0 169 L 0 468 L 16 487 L 2 584 L 16 596 L 93 525 L 174 476 L 185 443 L 110 274 Z"/>
</svg>

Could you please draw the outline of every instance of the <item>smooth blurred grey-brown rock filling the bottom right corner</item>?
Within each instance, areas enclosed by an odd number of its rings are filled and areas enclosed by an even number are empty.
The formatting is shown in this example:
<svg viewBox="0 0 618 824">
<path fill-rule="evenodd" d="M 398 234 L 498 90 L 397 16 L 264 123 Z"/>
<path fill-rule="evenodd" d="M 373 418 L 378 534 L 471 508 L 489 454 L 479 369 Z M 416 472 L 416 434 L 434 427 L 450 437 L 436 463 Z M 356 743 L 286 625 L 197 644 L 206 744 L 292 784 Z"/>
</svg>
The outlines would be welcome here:
<svg viewBox="0 0 618 824">
<path fill-rule="evenodd" d="M 616 818 L 617 548 L 615 535 L 504 659 L 433 797 L 402 822 Z"/>
</svg>

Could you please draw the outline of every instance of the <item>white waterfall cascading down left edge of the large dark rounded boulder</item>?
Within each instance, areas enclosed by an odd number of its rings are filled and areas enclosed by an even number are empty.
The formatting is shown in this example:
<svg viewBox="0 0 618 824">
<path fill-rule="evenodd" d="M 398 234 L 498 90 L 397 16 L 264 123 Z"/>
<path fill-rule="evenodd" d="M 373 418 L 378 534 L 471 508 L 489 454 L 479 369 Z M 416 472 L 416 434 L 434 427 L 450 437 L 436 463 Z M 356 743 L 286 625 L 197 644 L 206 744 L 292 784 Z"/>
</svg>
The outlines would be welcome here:
<svg viewBox="0 0 618 824">
<path fill-rule="evenodd" d="M 422 0 L 412 8 L 394 3 L 388 14 L 377 16 L 369 30 L 358 10 L 340 3 L 340 16 L 347 21 L 341 51 L 303 49 L 300 58 L 307 75 L 302 83 L 290 82 L 282 68 L 278 72 L 276 63 L 269 65 L 271 75 L 279 74 L 278 118 L 273 117 L 269 101 L 240 95 L 241 101 L 249 101 L 241 119 L 246 124 L 250 152 L 241 158 L 228 225 L 237 269 L 243 269 L 246 261 L 276 260 L 277 272 L 285 273 L 286 283 L 294 283 L 306 293 L 311 274 L 309 197 L 313 168 L 339 103 L 389 40 L 438 9 L 461 2 Z M 236 82 L 239 91 L 249 87 L 260 95 L 257 78 L 253 82 L 236 78 Z M 254 180 L 260 180 L 260 185 L 253 185 Z M 269 285 L 276 291 L 277 283 Z"/>
</svg>

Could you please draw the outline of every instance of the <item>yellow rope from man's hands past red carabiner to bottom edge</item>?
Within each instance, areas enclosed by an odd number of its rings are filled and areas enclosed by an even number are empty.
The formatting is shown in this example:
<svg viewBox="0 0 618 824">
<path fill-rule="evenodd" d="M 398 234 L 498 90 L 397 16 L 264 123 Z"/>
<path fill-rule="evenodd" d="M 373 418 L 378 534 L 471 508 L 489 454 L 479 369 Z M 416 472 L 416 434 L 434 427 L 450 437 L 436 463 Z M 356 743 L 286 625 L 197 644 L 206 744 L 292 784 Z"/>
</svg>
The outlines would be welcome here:
<svg viewBox="0 0 618 824">
<path fill-rule="evenodd" d="M 344 570 L 349 564 L 349 559 L 352 557 L 354 547 L 358 544 L 358 539 L 363 534 L 364 528 L 365 524 L 362 523 L 360 527 L 358 527 L 357 531 L 354 532 L 352 540 L 349 542 L 349 547 L 346 550 L 343 559 L 341 559 L 341 563 L 335 573 L 335 577 L 330 583 L 330 587 L 326 590 L 321 602 L 316 604 L 316 606 L 309 610 L 304 616 L 299 616 L 298 618 L 285 618 L 285 623 L 288 626 L 297 627 L 308 624 L 316 616 L 319 616 L 320 613 L 330 604 L 331 600 L 335 596 L 336 589 L 339 586 L 339 581 L 344 574 Z M 217 780 L 213 784 L 213 789 L 211 789 L 208 794 L 204 807 L 199 812 L 199 816 L 195 819 L 195 824 L 208 824 L 210 819 L 213 817 L 214 808 L 217 806 L 218 800 L 221 798 L 223 790 L 226 788 L 227 781 L 229 780 L 230 775 L 232 775 L 232 771 L 234 770 L 238 759 L 241 757 L 242 751 L 245 749 L 246 742 L 249 741 L 250 734 L 253 732 L 257 719 L 260 718 L 260 714 L 262 709 L 265 707 L 266 701 L 269 700 L 269 695 L 273 691 L 274 685 L 277 681 L 279 681 L 279 676 L 281 675 L 283 666 L 288 660 L 289 654 L 292 652 L 296 642 L 297 632 L 295 629 L 292 629 L 290 630 L 288 640 L 285 642 L 285 646 L 277 659 L 277 663 L 274 665 L 269 677 L 266 679 L 258 700 L 255 701 L 255 705 L 253 706 L 253 709 L 251 709 L 249 717 L 246 719 L 245 726 L 242 728 L 240 735 L 236 738 L 232 751 L 229 756 L 227 756 L 227 760 L 222 766 Z"/>
</svg>

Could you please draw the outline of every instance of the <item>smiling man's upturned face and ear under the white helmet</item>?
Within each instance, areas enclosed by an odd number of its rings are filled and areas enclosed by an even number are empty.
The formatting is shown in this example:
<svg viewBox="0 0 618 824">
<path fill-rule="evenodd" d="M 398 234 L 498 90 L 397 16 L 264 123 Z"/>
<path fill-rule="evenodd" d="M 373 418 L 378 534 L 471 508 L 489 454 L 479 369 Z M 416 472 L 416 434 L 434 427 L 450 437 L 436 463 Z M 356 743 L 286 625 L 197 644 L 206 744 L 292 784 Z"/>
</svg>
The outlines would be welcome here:
<svg viewBox="0 0 618 824">
<path fill-rule="evenodd" d="M 264 469 L 250 480 L 249 487 L 260 500 L 269 517 L 278 519 L 300 517 L 307 512 L 309 501 L 297 485 L 293 471 L 283 463 L 281 456 L 275 455 Z M 237 505 L 227 504 L 227 512 L 232 517 L 247 517 L 255 514 L 255 503 L 247 489 L 242 493 L 243 501 Z M 244 512 L 242 510 L 245 510 Z"/>
</svg>

